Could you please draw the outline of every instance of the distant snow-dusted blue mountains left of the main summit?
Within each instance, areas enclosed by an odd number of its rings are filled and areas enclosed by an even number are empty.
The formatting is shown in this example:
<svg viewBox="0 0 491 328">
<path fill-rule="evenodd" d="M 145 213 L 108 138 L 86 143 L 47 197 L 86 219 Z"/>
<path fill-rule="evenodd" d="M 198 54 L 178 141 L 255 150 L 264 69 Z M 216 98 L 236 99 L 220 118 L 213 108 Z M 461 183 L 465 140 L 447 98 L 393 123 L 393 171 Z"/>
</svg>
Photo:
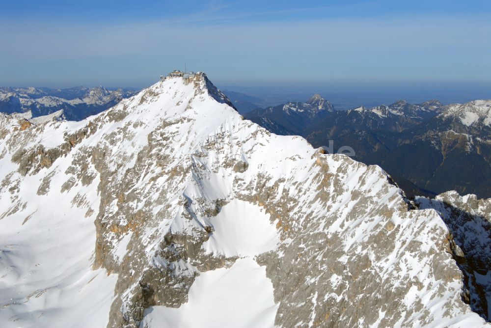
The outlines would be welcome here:
<svg viewBox="0 0 491 328">
<path fill-rule="evenodd" d="M 38 117 L 61 110 L 64 118 L 79 121 L 134 94 L 134 90 L 108 90 L 103 86 L 67 89 L 0 87 L 0 112 Z"/>
</svg>

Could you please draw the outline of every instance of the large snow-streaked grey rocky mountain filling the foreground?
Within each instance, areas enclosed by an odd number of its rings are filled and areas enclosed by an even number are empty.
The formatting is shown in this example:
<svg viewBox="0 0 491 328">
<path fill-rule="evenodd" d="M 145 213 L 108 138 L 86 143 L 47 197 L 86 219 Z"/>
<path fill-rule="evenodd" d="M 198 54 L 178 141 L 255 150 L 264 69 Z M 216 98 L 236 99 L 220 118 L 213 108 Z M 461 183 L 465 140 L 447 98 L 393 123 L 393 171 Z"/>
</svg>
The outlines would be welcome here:
<svg viewBox="0 0 491 328">
<path fill-rule="evenodd" d="M 198 73 L 81 122 L 1 115 L 2 327 L 486 325 L 437 211 L 230 105 Z"/>
</svg>

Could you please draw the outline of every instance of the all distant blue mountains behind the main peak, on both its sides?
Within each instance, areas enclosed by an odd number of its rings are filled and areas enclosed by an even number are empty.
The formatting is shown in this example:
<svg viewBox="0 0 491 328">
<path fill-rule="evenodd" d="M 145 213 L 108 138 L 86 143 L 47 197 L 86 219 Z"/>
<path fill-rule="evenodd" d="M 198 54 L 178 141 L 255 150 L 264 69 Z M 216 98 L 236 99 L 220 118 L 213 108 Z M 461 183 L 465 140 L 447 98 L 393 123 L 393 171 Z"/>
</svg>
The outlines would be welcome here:
<svg viewBox="0 0 491 328">
<path fill-rule="evenodd" d="M 227 96 L 245 118 L 279 135 L 300 135 L 313 146 L 350 146 L 354 159 L 382 166 L 408 196 L 456 190 L 491 197 L 491 101 L 442 105 L 398 101 L 373 108 L 335 110 L 314 95 L 305 102 L 259 108 L 264 100 L 239 92 Z M 82 120 L 136 91 L 73 87 L 0 87 L 0 112 L 29 119 L 50 115 Z"/>
</svg>

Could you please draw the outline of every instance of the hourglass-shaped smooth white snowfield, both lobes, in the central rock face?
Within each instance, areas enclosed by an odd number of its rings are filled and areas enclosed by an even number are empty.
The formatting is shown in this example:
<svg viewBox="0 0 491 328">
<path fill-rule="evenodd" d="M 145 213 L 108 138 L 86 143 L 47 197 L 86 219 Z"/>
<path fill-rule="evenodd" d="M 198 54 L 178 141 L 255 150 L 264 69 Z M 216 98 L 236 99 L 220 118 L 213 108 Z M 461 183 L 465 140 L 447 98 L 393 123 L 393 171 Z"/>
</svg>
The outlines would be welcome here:
<svg viewBox="0 0 491 328">
<path fill-rule="evenodd" d="M 207 252 L 239 256 L 230 268 L 200 273 L 179 308 L 151 306 L 141 327 L 273 327 L 278 304 L 273 284 L 253 257 L 274 250 L 279 236 L 269 215 L 255 204 L 232 200 L 210 219 L 215 231 Z M 146 325 L 146 326 L 145 326 Z"/>
</svg>

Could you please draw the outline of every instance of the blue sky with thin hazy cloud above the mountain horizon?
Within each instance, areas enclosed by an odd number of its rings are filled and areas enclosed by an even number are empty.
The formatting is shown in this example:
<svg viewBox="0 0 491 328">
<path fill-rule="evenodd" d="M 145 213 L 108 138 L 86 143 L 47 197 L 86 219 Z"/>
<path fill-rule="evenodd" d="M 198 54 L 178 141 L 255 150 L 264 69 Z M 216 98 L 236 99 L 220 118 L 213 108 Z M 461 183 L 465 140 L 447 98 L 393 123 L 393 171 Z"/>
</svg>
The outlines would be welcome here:
<svg viewBox="0 0 491 328">
<path fill-rule="evenodd" d="M 0 1 L 0 85 L 491 82 L 490 0 Z"/>
</svg>

